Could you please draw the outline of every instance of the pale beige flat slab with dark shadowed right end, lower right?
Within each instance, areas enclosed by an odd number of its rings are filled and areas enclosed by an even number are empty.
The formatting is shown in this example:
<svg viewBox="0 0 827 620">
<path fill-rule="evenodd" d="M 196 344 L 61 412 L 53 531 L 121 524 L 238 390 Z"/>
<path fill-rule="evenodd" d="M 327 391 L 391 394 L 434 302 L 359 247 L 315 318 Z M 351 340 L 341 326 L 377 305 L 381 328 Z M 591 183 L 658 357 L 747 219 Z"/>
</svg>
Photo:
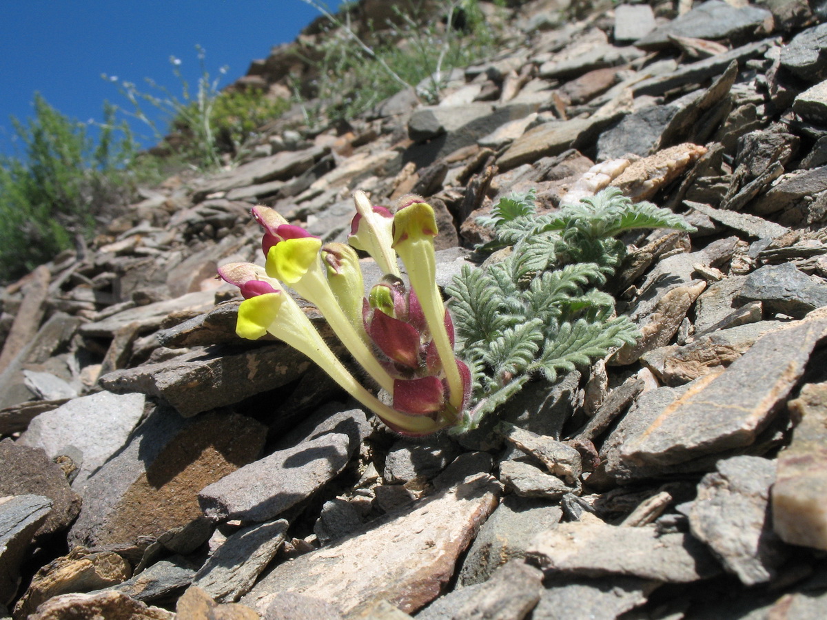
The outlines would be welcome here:
<svg viewBox="0 0 827 620">
<path fill-rule="evenodd" d="M 560 523 L 534 538 L 528 559 L 547 575 L 626 575 L 678 584 L 720 572 L 705 546 L 688 534 L 606 523 Z"/>
</svg>

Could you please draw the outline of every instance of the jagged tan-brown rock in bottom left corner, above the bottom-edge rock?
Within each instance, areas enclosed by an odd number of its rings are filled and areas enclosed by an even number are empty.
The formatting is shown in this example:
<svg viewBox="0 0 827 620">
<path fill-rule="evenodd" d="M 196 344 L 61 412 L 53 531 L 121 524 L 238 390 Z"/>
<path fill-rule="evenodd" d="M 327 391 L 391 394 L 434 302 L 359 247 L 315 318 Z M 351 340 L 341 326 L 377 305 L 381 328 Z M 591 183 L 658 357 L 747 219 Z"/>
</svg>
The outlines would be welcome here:
<svg viewBox="0 0 827 620">
<path fill-rule="evenodd" d="M 114 551 L 88 551 L 76 546 L 68 556 L 52 560 L 37 571 L 26 593 L 17 601 L 15 616 L 26 618 L 38 605 L 60 594 L 88 592 L 120 584 L 131 574 L 127 560 Z"/>
</svg>

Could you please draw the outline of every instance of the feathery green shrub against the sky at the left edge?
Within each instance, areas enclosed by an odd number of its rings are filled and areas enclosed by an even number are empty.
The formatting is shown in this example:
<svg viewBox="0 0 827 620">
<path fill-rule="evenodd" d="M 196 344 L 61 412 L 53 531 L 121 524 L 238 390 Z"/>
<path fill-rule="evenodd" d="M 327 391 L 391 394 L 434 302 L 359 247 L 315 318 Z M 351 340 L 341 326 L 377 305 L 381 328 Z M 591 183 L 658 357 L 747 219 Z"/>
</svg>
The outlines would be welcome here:
<svg viewBox="0 0 827 620">
<path fill-rule="evenodd" d="M 104 107 L 97 141 L 35 95 L 35 115 L 12 117 L 21 154 L 0 158 L 0 269 L 12 279 L 74 246 L 95 216 L 131 193 L 135 147 L 115 110 Z"/>
</svg>

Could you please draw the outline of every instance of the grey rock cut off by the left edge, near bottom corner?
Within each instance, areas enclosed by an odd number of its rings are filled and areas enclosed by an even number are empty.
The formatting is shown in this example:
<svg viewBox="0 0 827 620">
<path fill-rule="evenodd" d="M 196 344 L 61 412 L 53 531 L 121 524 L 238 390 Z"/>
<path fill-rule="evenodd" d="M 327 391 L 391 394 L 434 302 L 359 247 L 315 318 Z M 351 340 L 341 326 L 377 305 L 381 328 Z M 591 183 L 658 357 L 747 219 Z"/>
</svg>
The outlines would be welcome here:
<svg viewBox="0 0 827 620">
<path fill-rule="evenodd" d="M 50 499 L 42 495 L 0 498 L 0 605 L 17 593 L 20 565 L 50 510 Z"/>
</svg>

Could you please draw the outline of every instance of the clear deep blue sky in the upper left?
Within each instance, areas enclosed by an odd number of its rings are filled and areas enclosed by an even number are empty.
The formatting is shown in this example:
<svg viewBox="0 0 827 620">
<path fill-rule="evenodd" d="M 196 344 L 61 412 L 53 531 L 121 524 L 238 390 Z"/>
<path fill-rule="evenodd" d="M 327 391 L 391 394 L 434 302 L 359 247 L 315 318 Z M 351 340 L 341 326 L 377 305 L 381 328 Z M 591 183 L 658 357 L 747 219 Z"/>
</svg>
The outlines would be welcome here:
<svg viewBox="0 0 827 620">
<path fill-rule="evenodd" d="M 246 74 L 251 60 L 293 41 L 318 17 L 301 0 L 12 0 L 0 21 L 0 153 L 12 152 L 9 116 L 31 117 L 40 92 L 79 121 L 100 120 L 103 101 L 129 103 L 101 74 L 151 89 L 145 78 L 180 94 L 170 56 L 191 84 L 200 75 L 195 45 L 222 85 Z M 337 0 L 328 0 L 337 6 Z M 143 135 L 151 132 L 139 124 Z"/>
</svg>

